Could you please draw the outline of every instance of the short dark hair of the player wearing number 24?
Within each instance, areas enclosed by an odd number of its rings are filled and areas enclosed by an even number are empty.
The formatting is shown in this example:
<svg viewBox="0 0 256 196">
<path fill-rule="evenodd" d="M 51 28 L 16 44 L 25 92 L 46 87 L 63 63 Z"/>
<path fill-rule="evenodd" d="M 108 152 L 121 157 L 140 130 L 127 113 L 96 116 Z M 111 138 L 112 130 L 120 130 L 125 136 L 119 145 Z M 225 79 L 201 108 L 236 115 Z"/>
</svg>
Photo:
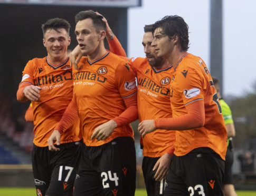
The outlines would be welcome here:
<svg viewBox="0 0 256 196">
<path fill-rule="evenodd" d="M 83 21 L 84 19 L 91 18 L 93 26 L 96 28 L 96 32 L 99 33 L 101 30 L 106 31 L 106 23 L 102 21 L 103 16 L 96 14 L 92 10 L 79 12 L 75 16 L 75 23 Z"/>
</svg>

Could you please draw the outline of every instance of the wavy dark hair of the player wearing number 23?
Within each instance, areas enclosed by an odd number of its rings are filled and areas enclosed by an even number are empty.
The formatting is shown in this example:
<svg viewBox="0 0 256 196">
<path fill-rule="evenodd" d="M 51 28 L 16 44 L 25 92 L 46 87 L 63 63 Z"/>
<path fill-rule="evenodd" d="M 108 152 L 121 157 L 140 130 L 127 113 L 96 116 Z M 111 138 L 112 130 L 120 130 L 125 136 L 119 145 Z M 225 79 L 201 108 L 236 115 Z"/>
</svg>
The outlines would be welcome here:
<svg viewBox="0 0 256 196">
<path fill-rule="evenodd" d="M 175 35 L 178 36 L 182 51 L 188 50 L 188 25 L 181 16 L 165 16 L 153 25 L 153 34 L 156 28 L 162 28 L 161 33 L 167 35 L 170 39 L 173 39 Z"/>
</svg>

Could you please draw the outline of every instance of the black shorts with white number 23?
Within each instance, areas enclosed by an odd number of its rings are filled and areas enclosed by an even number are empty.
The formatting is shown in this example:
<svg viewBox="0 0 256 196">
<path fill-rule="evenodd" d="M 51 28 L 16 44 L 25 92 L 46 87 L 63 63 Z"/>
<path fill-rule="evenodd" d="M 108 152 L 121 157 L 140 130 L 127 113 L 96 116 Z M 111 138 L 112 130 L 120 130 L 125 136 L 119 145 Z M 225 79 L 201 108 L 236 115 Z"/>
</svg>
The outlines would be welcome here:
<svg viewBox="0 0 256 196">
<path fill-rule="evenodd" d="M 224 195 L 224 161 L 210 148 L 173 156 L 164 195 Z"/>
</svg>

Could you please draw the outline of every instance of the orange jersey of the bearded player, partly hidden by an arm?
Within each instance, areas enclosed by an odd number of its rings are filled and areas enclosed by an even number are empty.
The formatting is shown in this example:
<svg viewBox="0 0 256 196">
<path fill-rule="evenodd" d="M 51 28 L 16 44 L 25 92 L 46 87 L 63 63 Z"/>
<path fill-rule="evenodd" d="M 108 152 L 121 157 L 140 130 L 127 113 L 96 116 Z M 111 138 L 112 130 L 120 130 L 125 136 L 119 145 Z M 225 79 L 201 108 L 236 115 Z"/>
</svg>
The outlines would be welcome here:
<svg viewBox="0 0 256 196">
<path fill-rule="evenodd" d="M 147 58 L 131 58 L 130 64 L 137 74 L 139 120 L 172 117 L 170 108 L 171 65 L 156 70 Z M 143 155 L 159 157 L 174 149 L 175 131 L 157 129 L 142 139 Z"/>
</svg>

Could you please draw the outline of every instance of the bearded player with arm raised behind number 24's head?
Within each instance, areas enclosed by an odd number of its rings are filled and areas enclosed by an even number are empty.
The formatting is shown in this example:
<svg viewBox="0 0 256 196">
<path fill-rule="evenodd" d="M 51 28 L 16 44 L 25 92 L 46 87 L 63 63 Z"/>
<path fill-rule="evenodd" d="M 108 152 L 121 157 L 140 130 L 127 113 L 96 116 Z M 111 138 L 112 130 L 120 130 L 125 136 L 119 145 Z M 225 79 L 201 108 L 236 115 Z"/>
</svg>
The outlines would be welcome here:
<svg viewBox="0 0 256 196">
<path fill-rule="evenodd" d="M 103 18 L 103 21 L 107 25 L 107 36 L 114 37 L 106 18 Z M 172 117 L 169 99 L 172 65 L 169 65 L 163 58 L 156 57 L 154 48 L 151 46 L 154 39 L 151 33 L 152 27 L 153 25 L 145 25 L 144 27 L 145 33 L 142 44 L 146 58 L 125 58 L 130 62 L 131 68 L 137 76 L 140 121 L 153 117 Z M 109 42 L 109 46 L 111 51 L 113 48 L 115 48 L 115 52 L 123 50 L 117 38 Z M 79 53 L 81 53 L 80 48 L 75 48 L 72 52 L 75 57 L 81 56 Z M 173 155 L 174 141 L 175 132 L 167 130 L 156 130 L 140 140 L 144 155 L 142 169 L 149 196 L 164 194 L 165 177 Z"/>
</svg>

